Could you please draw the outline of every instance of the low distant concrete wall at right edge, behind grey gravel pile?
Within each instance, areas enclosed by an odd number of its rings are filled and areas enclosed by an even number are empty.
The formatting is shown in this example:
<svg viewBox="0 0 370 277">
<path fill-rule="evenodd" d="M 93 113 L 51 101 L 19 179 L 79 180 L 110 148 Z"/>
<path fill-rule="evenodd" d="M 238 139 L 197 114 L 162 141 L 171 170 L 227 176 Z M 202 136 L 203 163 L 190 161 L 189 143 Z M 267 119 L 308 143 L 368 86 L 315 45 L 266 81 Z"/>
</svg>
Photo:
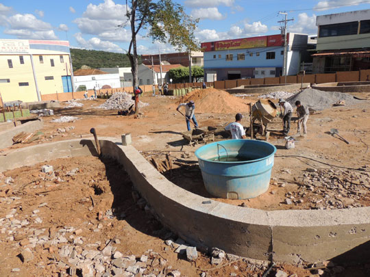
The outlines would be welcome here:
<svg viewBox="0 0 370 277">
<path fill-rule="evenodd" d="M 325 92 L 370 92 L 370 82 L 335 82 L 312 85 L 315 90 Z"/>
</svg>

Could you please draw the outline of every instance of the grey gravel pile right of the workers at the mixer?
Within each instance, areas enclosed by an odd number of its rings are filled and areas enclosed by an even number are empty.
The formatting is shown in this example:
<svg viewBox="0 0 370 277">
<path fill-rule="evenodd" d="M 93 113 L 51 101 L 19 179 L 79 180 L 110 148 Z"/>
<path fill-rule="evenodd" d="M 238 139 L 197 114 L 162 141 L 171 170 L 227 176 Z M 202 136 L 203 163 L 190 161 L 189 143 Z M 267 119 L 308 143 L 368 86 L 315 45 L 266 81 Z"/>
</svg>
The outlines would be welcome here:
<svg viewBox="0 0 370 277">
<path fill-rule="evenodd" d="M 322 90 L 314 90 L 312 88 L 302 90 L 286 99 L 291 105 L 295 105 L 295 101 L 301 101 L 303 105 L 317 111 L 332 107 L 333 104 L 343 100 L 345 101 L 345 105 L 359 102 L 359 100 L 355 99 L 354 96 L 350 94 L 343 92 L 323 92 Z"/>
</svg>

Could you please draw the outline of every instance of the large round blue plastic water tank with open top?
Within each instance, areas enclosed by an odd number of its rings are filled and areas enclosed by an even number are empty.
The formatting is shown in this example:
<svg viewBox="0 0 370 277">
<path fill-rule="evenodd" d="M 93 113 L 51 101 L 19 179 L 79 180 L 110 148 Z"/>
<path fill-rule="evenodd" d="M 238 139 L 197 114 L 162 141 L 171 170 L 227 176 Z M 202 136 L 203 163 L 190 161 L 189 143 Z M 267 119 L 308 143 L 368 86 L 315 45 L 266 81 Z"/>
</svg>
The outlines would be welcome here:
<svg viewBox="0 0 370 277">
<path fill-rule="evenodd" d="M 195 155 L 210 194 L 247 199 L 269 188 L 275 152 L 275 146 L 268 142 L 224 140 L 202 146 Z"/>
</svg>

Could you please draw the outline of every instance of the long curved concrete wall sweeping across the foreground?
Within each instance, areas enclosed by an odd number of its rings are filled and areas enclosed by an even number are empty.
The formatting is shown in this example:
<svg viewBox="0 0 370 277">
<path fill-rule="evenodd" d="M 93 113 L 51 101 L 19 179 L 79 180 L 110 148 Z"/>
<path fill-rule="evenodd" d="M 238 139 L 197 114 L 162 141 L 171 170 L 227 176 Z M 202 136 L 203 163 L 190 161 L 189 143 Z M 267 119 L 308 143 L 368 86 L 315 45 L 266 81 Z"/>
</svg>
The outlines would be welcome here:
<svg viewBox="0 0 370 277">
<path fill-rule="evenodd" d="M 252 259 L 298 263 L 367 259 L 370 207 L 341 210 L 262 211 L 197 196 L 164 178 L 132 146 L 101 138 L 103 155 L 121 163 L 159 220 L 195 246 L 218 247 Z M 91 140 L 21 148 L 0 157 L 0 171 L 60 157 L 97 155 Z M 21 157 L 21 158 L 20 158 Z M 366 245 L 366 247 L 362 247 Z M 347 253 L 346 253 L 347 252 Z M 345 257 L 345 258 L 344 258 Z"/>
</svg>

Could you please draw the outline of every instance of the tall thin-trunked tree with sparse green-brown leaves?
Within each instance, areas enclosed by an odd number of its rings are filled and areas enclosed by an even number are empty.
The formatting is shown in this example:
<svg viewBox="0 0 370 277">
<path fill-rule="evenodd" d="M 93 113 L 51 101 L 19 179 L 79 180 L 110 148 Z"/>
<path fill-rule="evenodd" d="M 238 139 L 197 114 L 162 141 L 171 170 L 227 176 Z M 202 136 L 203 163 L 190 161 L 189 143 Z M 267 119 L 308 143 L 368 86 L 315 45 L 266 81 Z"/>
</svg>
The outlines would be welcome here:
<svg viewBox="0 0 370 277">
<path fill-rule="evenodd" d="M 137 36 L 139 31 L 146 29 L 147 36 L 152 40 L 170 43 L 178 51 L 199 49 L 195 42 L 194 30 L 199 19 L 186 15 L 182 5 L 172 0 L 126 0 L 127 22 L 120 27 L 131 28 L 131 41 L 127 50 L 132 71 L 132 85 L 138 85 L 138 53 Z M 189 50 L 190 49 L 190 50 Z"/>
</svg>

